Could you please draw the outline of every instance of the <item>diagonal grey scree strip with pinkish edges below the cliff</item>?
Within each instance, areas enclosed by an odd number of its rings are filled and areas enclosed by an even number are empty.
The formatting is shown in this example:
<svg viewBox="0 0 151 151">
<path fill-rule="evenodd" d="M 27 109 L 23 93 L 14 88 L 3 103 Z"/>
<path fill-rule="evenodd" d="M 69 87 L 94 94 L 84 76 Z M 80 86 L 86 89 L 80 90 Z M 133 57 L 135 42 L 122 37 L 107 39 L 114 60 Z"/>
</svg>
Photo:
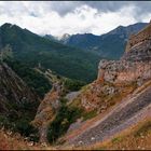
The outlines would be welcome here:
<svg viewBox="0 0 151 151">
<path fill-rule="evenodd" d="M 82 146 L 101 141 L 138 122 L 151 111 L 150 106 L 151 87 L 148 87 L 132 98 L 127 98 L 124 102 L 122 101 L 113 111 L 93 124 L 91 128 L 69 140 L 68 145 Z"/>
</svg>

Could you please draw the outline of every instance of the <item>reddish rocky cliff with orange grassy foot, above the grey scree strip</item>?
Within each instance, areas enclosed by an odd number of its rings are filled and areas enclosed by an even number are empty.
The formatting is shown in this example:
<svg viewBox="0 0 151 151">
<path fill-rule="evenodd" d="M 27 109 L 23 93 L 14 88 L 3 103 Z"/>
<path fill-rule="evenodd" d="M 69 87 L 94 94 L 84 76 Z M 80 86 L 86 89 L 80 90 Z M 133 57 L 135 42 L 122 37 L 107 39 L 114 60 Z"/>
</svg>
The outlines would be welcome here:
<svg viewBox="0 0 151 151">
<path fill-rule="evenodd" d="M 100 60 L 97 80 L 83 87 L 72 105 L 107 112 L 151 79 L 151 24 L 129 38 L 120 60 Z"/>
</svg>

